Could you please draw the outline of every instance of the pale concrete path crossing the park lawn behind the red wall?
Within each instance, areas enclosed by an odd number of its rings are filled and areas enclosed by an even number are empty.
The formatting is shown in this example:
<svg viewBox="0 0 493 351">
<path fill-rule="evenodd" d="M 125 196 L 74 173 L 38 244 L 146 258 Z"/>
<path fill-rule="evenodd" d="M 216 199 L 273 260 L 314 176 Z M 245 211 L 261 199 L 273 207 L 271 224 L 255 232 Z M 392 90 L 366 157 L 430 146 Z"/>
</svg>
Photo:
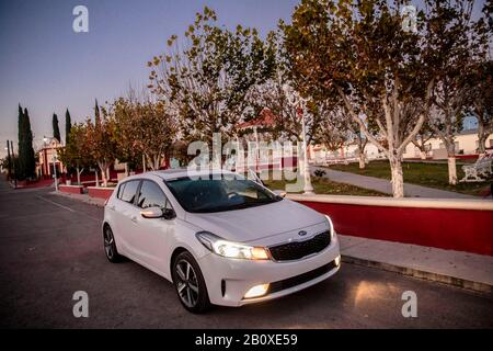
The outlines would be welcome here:
<svg viewBox="0 0 493 351">
<path fill-rule="evenodd" d="M 325 171 L 325 178 L 337 182 L 356 185 L 369 190 L 376 190 L 381 193 L 392 194 L 392 184 L 390 180 L 360 176 L 349 172 L 334 171 L 325 167 L 311 167 L 311 170 L 321 169 Z M 432 199 L 480 199 L 472 195 L 460 194 L 452 191 L 433 189 L 415 184 L 404 184 L 405 196 L 411 197 L 432 197 Z"/>
</svg>

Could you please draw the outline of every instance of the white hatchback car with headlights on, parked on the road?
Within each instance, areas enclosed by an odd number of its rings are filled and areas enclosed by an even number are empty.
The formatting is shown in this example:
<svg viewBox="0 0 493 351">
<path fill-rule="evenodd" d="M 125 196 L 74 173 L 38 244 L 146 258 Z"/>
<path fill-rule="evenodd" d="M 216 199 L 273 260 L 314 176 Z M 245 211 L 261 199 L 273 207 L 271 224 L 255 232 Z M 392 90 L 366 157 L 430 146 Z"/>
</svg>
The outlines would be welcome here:
<svg viewBox="0 0 493 351">
<path fill-rule="evenodd" d="M 285 296 L 341 264 L 328 216 L 227 171 L 128 177 L 102 228 L 111 262 L 125 256 L 173 282 L 193 313 Z"/>
</svg>

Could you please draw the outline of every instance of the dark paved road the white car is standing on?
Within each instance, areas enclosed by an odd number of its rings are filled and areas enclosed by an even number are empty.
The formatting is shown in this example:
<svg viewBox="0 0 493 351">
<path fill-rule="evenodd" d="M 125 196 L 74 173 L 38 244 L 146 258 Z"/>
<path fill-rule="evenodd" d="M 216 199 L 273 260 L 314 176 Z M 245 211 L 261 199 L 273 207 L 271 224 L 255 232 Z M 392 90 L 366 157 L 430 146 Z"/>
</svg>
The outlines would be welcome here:
<svg viewBox="0 0 493 351">
<path fill-rule="evenodd" d="M 0 327 L 493 328 L 490 295 L 351 264 L 291 296 L 191 315 L 164 279 L 107 262 L 101 218 L 99 207 L 0 182 Z M 76 291 L 89 293 L 89 318 L 72 316 Z M 401 315 L 404 291 L 417 294 L 417 318 Z"/>
</svg>

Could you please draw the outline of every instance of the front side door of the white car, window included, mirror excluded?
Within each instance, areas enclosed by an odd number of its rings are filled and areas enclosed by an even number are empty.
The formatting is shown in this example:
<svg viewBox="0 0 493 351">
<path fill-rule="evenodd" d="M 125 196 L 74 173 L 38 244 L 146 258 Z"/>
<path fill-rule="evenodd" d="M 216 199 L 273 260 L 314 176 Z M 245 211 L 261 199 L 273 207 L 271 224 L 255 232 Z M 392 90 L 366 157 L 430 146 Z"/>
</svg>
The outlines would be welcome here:
<svg viewBox="0 0 493 351">
<path fill-rule="evenodd" d="M 170 203 L 161 186 L 152 180 L 142 180 L 137 197 L 139 211 L 148 207 L 164 210 Z M 169 229 L 174 225 L 174 219 L 145 218 L 137 216 L 137 230 L 133 231 L 130 244 L 135 254 L 141 263 L 164 274 L 168 264 L 167 245 Z"/>
</svg>

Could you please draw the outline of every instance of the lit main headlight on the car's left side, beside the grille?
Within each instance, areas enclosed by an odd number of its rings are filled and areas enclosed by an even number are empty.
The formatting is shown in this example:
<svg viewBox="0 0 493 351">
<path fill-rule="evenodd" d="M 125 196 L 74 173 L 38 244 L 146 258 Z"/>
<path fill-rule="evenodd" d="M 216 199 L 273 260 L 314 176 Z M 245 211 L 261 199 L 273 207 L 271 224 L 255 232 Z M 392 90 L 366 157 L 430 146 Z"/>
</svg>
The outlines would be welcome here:
<svg viewBox="0 0 493 351">
<path fill-rule="evenodd" d="M 196 236 L 198 241 L 200 241 L 207 249 L 222 257 L 245 260 L 270 259 L 267 250 L 262 247 L 227 241 L 208 231 L 197 233 Z"/>
</svg>

